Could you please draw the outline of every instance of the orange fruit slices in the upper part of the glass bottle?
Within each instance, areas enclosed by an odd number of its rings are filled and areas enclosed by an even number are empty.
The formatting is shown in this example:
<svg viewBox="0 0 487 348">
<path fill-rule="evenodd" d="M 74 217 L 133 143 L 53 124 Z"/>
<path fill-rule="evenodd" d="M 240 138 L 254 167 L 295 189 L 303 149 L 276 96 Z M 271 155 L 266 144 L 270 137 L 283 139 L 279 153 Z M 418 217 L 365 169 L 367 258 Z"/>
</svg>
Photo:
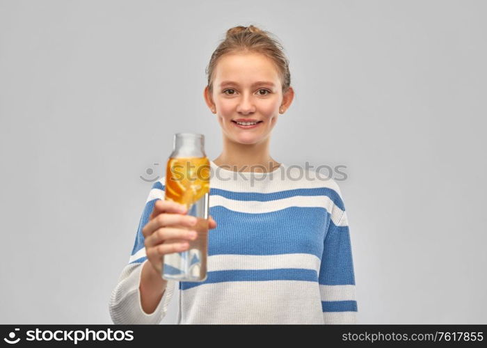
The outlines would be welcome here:
<svg viewBox="0 0 487 348">
<path fill-rule="evenodd" d="M 166 200 L 189 207 L 209 193 L 208 157 L 168 159 L 166 166 Z"/>
</svg>

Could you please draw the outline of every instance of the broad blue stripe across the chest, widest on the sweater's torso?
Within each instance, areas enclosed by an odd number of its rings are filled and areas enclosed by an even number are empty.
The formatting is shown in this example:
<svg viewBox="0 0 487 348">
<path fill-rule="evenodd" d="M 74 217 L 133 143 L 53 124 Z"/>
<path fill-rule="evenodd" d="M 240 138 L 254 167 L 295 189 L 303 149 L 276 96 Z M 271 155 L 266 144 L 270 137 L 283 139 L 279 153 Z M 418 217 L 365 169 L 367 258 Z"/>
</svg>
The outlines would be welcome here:
<svg viewBox="0 0 487 348">
<path fill-rule="evenodd" d="M 321 259 L 330 214 L 321 207 L 287 207 L 250 214 L 210 208 L 217 227 L 208 232 L 208 255 L 308 253 Z"/>
</svg>

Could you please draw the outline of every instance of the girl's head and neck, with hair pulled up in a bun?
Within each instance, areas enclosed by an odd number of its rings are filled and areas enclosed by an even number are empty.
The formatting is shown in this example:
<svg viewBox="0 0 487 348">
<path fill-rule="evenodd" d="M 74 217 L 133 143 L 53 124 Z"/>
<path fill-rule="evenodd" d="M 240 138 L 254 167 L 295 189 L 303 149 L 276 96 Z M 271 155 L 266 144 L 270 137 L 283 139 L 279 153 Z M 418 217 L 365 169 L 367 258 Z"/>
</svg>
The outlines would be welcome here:
<svg viewBox="0 0 487 348">
<path fill-rule="evenodd" d="M 223 132 L 217 166 L 272 171 L 280 164 L 269 155 L 271 131 L 294 97 L 287 59 L 255 26 L 237 26 L 216 49 L 207 69 L 204 96 Z"/>
</svg>

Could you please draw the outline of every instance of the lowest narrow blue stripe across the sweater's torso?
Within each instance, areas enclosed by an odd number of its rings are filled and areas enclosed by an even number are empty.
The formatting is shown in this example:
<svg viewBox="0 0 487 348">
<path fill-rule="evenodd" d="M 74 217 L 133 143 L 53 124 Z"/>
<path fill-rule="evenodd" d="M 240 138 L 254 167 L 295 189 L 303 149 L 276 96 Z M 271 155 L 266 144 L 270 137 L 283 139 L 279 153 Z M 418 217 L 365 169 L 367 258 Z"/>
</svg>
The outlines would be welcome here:
<svg viewBox="0 0 487 348">
<path fill-rule="evenodd" d="M 235 269 L 229 271 L 210 271 L 203 282 L 179 282 L 179 289 L 191 289 L 202 284 L 237 282 L 237 281 L 263 281 L 263 280 L 301 280 L 317 281 L 317 272 L 312 269 Z"/>
</svg>

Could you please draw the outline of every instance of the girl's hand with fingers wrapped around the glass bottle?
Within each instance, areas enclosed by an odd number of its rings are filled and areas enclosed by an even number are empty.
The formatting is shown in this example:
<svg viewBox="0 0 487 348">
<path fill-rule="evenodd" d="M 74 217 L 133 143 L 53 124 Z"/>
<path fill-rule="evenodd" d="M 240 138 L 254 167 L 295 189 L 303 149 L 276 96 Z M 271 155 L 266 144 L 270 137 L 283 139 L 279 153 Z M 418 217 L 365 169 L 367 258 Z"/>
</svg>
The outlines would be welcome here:
<svg viewBox="0 0 487 348">
<path fill-rule="evenodd" d="M 189 241 L 198 237 L 193 230 L 195 216 L 186 215 L 186 206 L 171 200 L 156 200 L 149 221 L 142 229 L 147 260 L 158 274 L 162 272 L 165 254 L 178 253 L 189 248 Z M 208 228 L 216 228 L 216 221 L 209 216 Z M 192 235 L 191 232 L 194 232 Z"/>
</svg>

